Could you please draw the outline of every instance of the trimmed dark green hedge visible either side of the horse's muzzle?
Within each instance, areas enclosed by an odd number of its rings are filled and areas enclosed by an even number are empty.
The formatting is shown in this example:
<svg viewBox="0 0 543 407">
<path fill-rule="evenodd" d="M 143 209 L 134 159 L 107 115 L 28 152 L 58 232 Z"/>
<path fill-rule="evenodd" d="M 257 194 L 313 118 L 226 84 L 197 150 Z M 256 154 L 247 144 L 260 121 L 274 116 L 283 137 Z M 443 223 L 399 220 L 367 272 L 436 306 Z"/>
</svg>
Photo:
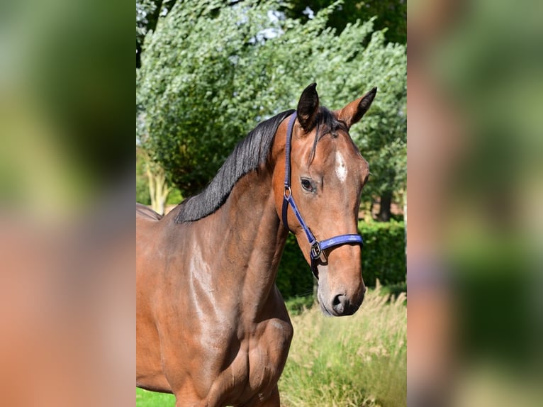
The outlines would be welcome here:
<svg viewBox="0 0 543 407">
<path fill-rule="evenodd" d="M 359 232 L 364 238 L 362 276 L 366 286 L 375 286 L 376 279 L 384 286 L 405 283 L 405 228 L 403 222 L 361 221 Z M 277 286 L 285 299 L 313 293 L 313 274 L 304 260 L 296 238 L 291 234 L 279 264 Z"/>
</svg>

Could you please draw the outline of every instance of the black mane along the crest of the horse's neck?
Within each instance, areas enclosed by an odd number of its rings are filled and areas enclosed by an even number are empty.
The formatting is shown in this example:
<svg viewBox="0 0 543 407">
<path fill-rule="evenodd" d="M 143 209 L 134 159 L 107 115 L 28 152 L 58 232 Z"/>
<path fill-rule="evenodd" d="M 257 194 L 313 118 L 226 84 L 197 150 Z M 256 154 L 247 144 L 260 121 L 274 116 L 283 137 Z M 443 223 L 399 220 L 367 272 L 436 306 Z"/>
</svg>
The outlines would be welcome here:
<svg viewBox="0 0 543 407">
<path fill-rule="evenodd" d="M 259 123 L 235 146 L 206 189 L 177 206 L 179 212 L 175 222 L 198 221 L 223 206 L 237 180 L 247 172 L 257 169 L 267 159 L 277 128 L 292 113 L 293 110 L 284 111 Z"/>
</svg>

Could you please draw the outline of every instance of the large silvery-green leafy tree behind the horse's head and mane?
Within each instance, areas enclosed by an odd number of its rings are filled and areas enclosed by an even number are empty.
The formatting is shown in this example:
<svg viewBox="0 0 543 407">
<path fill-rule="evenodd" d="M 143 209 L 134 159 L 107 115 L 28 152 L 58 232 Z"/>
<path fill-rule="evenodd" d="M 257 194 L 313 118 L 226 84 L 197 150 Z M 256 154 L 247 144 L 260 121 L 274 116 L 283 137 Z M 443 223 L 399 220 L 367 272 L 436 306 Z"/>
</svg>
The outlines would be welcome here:
<svg viewBox="0 0 543 407">
<path fill-rule="evenodd" d="M 296 107 L 310 82 L 330 108 L 376 86 L 352 136 L 370 162 L 371 191 L 396 191 L 405 178 L 401 158 L 393 157 L 405 155 L 405 45 L 386 43 L 374 20 L 349 23 L 341 33 L 328 27 L 337 4 L 308 21 L 281 13 L 282 4 L 179 1 L 159 18 L 137 71 L 137 128 L 148 135 L 142 146 L 181 194 L 194 194 L 237 141 Z"/>
</svg>

